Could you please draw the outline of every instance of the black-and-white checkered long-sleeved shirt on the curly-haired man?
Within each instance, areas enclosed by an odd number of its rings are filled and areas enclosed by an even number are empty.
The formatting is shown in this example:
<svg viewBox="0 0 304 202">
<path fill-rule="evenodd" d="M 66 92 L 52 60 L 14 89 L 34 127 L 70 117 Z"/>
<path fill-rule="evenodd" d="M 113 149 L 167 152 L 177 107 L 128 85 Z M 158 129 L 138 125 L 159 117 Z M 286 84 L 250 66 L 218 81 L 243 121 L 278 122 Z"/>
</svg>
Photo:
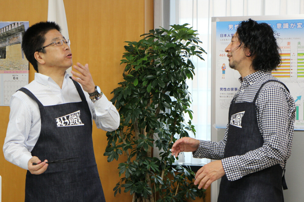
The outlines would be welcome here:
<svg viewBox="0 0 304 202">
<path fill-rule="evenodd" d="M 241 87 L 233 98 L 235 103 L 252 102 L 262 83 L 269 79 L 275 78 L 266 70 L 245 76 L 243 81 L 240 78 Z M 285 87 L 278 82 L 268 82 L 263 86 L 256 100 L 257 122 L 264 138 L 263 146 L 241 156 L 223 159 L 228 123 L 223 140 L 219 142 L 200 140 L 199 148 L 193 152 L 193 157 L 221 159 L 230 181 L 275 164 L 280 164 L 284 169 L 286 160 L 291 154 L 295 109 L 295 101 Z"/>
</svg>

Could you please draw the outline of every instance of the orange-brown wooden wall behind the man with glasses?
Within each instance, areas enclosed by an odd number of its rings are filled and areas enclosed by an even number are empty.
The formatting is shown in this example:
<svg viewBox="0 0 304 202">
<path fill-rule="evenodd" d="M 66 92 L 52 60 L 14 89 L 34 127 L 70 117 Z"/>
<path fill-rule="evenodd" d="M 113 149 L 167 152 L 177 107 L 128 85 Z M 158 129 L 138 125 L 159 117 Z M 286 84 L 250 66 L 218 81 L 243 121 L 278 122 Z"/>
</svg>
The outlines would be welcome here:
<svg viewBox="0 0 304 202">
<path fill-rule="evenodd" d="M 111 99 L 111 91 L 122 81 L 120 60 L 124 41 L 136 41 L 146 30 L 153 29 L 153 0 L 64 0 L 71 40 L 73 63 L 88 63 L 94 82 Z M 1 21 L 29 21 L 30 25 L 47 20 L 47 0 L 1 1 Z M 147 14 L 145 14 L 147 12 Z M 148 19 L 147 19 L 148 18 Z M 146 24 L 145 24 L 146 22 Z M 29 81 L 34 79 L 30 66 Z M 9 121 L 9 107 L 0 106 L 0 145 L 4 143 Z M 93 125 L 95 157 L 107 201 L 131 201 L 129 193 L 117 194 L 113 188 L 119 181 L 118 164 L 126 160 L 107 162 L 103 156 L 107 145 L 105 131 Z M 25 173 L 0 155 L 2 201 L 23 201 Z M 37 196 L 38 197 L 38 196 Z"/>
</svg>

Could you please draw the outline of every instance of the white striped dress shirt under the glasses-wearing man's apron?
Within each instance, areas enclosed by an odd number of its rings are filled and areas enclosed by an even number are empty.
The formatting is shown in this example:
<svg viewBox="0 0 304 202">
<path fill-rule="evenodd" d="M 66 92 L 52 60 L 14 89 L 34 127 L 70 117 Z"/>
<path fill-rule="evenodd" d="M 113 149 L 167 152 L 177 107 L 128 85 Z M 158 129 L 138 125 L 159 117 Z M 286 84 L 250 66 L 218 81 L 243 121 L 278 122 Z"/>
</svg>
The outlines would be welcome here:
<svg viewBox="0 0 304 202">
<path fill-rule="evenodd" d="M 29 89 L 43 106 L 81 101 L 77 89 L 67 73 L 61 89 L 53 79 L 40 73 L 35 73 L 35 79 L 25 88 Z M 103 95 L 101 99 L 93 103 L 88 93 L 84 91 L 84 94 L 97 128 L 105 131 L 116 130 L 120 119 L 112 102 Z M 4 157 L 9 162 L 27 170 L 28 161 L 32 158 L 31 151 L 40 135 L 40 111 L 37 103 L 21 91 L 12 95 L 10 109 L 9 124 L 3 146 Z"/>
</svg>

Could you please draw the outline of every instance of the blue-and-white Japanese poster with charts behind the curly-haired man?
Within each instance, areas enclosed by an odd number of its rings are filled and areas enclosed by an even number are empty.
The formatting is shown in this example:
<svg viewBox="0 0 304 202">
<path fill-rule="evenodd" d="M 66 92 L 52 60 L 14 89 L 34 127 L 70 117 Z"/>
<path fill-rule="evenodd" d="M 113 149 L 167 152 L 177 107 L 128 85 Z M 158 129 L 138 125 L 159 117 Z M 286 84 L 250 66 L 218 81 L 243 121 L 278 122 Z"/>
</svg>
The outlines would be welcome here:
<svg viewBox="0 0 304 202">
<path fill-rule="evenodd" d="M 213 77 L 216 80 L 214 89 L 216 93 L 216 128 L 226 128 L 230 102 L 240 87 L 238 80 L 240 74 L 229 67 L 225 48 L 230 43 L 239 23 L 251 18 L 257 22 L 267 23 L 274 30 L 275 38 L 281 49 L 282 63 L 275 71 L 272 71 L 272 76 L 285 83 L 290 90 L 296 104 L 294 129 L 304 130 L 304 16 L 283 17 L 243 16 L 214 18 L 216 34 L 212 34 L 212 37 L 215 37 L 216 40 L 216 53 L 212 55 L 214 57 L 212 68 L 216 69 L 215 77 Z M 212 27 L 212 33 L 213 31 Z"/>
</svg>

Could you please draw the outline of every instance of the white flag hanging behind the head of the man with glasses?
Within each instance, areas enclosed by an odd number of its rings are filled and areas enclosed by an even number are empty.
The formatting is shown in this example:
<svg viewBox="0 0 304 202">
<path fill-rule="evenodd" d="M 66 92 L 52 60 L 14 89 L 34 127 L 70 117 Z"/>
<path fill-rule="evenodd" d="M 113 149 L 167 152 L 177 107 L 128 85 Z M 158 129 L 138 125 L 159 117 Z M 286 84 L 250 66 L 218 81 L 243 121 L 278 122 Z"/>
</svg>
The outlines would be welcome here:
<svg viewBox="0 0 304 202">
<path fill-rule="evenodd" d="M 49 8 L 47 12 L 47 21 L 56 22 L 61 27 L 61 34 L 64 38 L 69 39 L 69 32 L 67 30 L 67 17 L 63 0 L 49 0 Z M 67 73 L 71 74 L 72 68 L 67 69 Z"/>
</svg>

